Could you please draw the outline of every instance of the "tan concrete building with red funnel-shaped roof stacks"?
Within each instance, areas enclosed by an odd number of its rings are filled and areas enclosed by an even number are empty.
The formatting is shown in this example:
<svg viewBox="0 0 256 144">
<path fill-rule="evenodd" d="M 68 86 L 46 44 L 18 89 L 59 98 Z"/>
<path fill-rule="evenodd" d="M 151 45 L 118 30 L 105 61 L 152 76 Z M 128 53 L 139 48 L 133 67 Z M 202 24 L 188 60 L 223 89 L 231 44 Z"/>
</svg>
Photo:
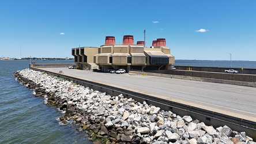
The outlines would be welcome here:
<svg viewBox="0 0 256 144">
<path fill-rule="evenodd" d="M 114 36 L 106 36 L 103 46 L 72 48 L 71 54 L 81 69 L 159 70 L 174 64 L 165 39 L 153 40 L 152 47 L 144 47 L 144 41 L 134 44 L 130 35 L 123 36 L 123 44 L 115 44 Z"/>
</svg>

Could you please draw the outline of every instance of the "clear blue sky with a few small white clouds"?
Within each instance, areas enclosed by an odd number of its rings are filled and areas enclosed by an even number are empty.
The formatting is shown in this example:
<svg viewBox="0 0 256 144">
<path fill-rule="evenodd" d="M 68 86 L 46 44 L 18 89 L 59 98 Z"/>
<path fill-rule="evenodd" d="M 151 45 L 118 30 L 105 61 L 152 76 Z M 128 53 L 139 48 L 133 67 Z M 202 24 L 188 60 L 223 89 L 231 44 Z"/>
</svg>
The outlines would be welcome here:
<svg viewBox="0 0 256 144">
<path fill-rule="evenodd" d="M 106 36 L 165 38 L 175 59 L 256 61 L 255 0 L 0 0 L 0 57 L 73 58 Z"/>
</svg>

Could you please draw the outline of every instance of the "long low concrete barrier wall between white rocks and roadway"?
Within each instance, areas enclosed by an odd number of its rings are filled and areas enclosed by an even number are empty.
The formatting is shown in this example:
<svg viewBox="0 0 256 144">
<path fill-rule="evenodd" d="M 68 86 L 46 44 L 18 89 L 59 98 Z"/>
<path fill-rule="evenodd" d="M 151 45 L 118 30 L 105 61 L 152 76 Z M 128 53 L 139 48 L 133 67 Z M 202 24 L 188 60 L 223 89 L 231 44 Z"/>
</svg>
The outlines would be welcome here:
<svg viewBox="0 0 256 144">
<path fill-rule="evenodd" d="M 191 118 L 198 119 L 199 121 L 204 122 L 208 126 L 213 126 L 216 128 L 227 125 L 232 130 L 246 132 L 246 134 L 249 135 L 249 137 L 253 138 L 254 141 L 256 140 L 256 122 L 252 122 L 250 120 L 244 120 L 236 118 L 234 116 L 224 115 L 222 113 L 192 107 L 190 105 L 176 103 L 174 101 L 169 101 L 163 98 L 150 96 L 148 94 L 137 93 L 126 89 L 116 88 L 114 86 L 87 81 L 81 78 L 74 78 L 61 73 L 54 73 L 47 70 L 37 69 L 35 67 L 31 67 L 31 69 L 36 71 L 42 71 L 56 76 L 58 75 L 58 77 L 69 79 L 70 81 L 73 81 L 76 84 L 83 85 L 94 90 L 99 90 L 100 92 L 106 92 L 107 94 L 110 94 L 112 96 L 118 96 L 119 94 L 123 94 L 124 97 L 133 98 L 134 100 L 140 101 L 141 103 L 143 101 L 146 101 L 148 104 L 160 107 L 165 111 L 172 111 L 180 116 L 189 115 L 191 116 Z"/>
</svg>

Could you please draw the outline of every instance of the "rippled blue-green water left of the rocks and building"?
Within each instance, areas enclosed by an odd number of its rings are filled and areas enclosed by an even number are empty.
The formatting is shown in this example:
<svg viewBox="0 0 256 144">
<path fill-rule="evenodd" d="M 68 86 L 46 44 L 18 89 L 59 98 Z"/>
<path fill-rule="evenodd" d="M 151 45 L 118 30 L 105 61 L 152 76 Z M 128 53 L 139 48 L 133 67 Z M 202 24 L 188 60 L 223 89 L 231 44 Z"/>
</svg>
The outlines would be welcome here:
<svg viewBox="0 0 256 144">
<path fill-rule="evenodd" d="M 73 63 L 70 60 L 36 63 Z M 29 60 L 0 60 L 0 143 L 92 143 L 84 132 L 59 125 L 55 107 L 33 97 L 12 73 L 27 69 Z"/>
</svg>

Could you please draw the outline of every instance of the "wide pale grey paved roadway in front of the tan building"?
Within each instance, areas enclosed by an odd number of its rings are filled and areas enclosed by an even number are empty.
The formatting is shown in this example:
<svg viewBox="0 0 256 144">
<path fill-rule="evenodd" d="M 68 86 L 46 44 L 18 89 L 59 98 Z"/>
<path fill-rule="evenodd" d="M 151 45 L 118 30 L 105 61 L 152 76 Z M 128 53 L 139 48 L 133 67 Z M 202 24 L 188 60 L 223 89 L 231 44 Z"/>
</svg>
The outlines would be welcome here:
<svg viewBox="0 0 256 144">
<path fill-rule="evenodd" d="M 42 70 L 133 90 L 256 122 L 256 88 L 138 74 L 97 73 L 67 67 Z"/>
</svg>

